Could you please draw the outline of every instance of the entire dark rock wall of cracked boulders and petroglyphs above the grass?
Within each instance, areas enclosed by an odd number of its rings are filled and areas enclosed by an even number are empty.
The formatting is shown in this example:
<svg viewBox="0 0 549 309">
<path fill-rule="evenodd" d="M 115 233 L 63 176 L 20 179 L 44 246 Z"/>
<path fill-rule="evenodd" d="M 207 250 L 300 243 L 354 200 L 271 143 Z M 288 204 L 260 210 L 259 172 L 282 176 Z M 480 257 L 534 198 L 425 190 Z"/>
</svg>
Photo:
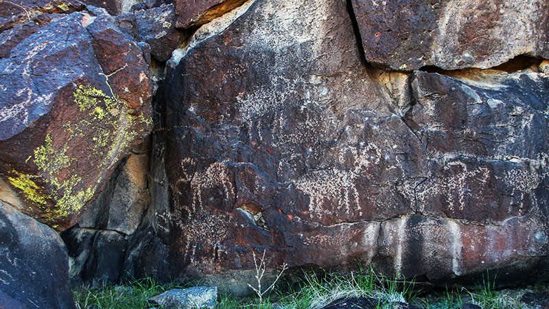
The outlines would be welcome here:
<svg viewBox="0 0 549 309">
<path fill-rule="evenodd" d="M 0 199 L 75 282 L 546 276 L 546 1 L 40 5 L 0 27 Z"/>
</svg>

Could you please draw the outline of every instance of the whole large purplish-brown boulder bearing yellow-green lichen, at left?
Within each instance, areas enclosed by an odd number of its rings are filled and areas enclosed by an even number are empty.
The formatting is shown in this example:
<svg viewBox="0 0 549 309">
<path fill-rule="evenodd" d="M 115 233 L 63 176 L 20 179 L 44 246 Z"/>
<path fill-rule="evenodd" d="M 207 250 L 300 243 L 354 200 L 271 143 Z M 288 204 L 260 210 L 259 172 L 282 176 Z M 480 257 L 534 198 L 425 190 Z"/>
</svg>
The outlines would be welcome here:
<svg viewBox="0 0 549 309">
<path fill-rule="evenodd" d="M 150 132 L 152 86 L 141 48 L 108 16 L 48 16 L 1 34 L 20 43 L 0 58 L 0 173 L 19 195 L 10 203 L 65 229 Z"/>
</svg>

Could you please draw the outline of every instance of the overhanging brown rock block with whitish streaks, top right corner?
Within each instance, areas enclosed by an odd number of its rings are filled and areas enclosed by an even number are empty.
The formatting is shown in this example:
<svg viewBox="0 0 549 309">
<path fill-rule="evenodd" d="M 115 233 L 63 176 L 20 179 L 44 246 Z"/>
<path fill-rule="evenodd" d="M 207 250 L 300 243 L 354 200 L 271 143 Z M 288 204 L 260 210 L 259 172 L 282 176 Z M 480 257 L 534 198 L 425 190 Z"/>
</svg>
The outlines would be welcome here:
<svg viewBox="0 0 549 309">
<path fill-rule="evenodd" d="M 366 60 L 410 71 L 487 69 L 522 54 L 549 58 L 549 3 L 352 0 Z"/>
</svg>

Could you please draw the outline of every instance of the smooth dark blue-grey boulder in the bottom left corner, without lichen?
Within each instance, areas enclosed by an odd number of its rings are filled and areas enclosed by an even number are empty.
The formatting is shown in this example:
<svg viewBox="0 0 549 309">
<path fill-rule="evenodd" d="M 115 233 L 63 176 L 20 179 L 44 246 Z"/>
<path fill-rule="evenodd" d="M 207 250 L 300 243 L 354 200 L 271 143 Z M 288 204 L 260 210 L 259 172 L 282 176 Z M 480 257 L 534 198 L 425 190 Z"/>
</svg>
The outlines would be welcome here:
<svg viewBox="0 0 549 309">
<path fill-rule="evenodd" d="M 0 308 L 75 308 L 56 231 L 0 201 Z"/>
</svg>

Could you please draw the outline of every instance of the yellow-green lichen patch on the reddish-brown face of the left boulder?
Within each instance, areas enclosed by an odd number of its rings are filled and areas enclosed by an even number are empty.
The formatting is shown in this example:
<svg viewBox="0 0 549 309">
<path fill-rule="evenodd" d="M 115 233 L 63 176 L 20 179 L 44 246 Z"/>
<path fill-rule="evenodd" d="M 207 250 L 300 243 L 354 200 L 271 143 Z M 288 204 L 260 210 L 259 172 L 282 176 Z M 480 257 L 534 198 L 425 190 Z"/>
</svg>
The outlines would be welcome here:
<svg viewBox="0 0 549 309">
<path fill-rule="evenodd" d="M 36 165 L 36 176 L 13 171 L 8 178 L 27 201 L 43 209 L 44 219 L 51 224 L 78 213 L 89 203 L 107 176 L 105 171 L 146 133 L 143 126 L 152 124 L 141 111 L 128 108 L 124 100 L 91 86 L 76 87 L 73 100 L 78 117 L 62 125 L 64 134 L 47 133 L 43 144 L 34 149 L 30 159 Z M 89 161 L 80 162 L 87 164 L 86 168 L 76 164 L 77 157 L 71 157 L 82 153 L 82 145 L 89 146 L 85 152 L 91 156 Z M 84 171 L 85 180 L 79 174 Z M 40 179 L 43 187 L 33 179 Z M 52 204 L 54 207 L 49 206 Z"/>
</svg>

